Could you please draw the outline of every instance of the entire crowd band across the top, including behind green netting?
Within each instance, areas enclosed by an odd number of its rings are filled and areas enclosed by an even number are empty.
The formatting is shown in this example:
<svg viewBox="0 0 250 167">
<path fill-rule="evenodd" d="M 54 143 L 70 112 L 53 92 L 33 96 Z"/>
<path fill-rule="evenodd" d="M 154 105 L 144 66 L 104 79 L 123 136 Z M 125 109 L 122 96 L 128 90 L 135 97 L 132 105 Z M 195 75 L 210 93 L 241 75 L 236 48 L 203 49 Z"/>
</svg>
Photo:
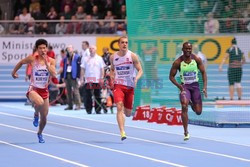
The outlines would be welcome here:
<svg viewBox="0 0 250 167">
<path fill-rule="evenodd" d="M 133 22 L 134 33 L 250 32 L 249 0 L 168 3 L 144 0 L 143 3 L 133 6 L 137 11 L 133 17 L 138 20 Z M 125 0 L 16 0 L 13 11 L 12 23 L 1 23 L 0 34 L 124 35 L 127 32 Z"/>
</svg>

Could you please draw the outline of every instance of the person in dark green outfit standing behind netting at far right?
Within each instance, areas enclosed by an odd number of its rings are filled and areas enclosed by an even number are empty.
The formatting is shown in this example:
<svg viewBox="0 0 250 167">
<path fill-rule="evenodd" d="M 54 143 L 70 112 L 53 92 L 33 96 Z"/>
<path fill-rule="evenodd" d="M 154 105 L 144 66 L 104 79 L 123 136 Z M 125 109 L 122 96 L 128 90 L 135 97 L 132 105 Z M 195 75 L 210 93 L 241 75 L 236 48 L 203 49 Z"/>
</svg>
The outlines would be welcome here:
<svg viewBox="0 0 250 167">
<path fill-rule="evenodd" d="M 234 98 L 234 86 L 236 87 L 238 100 L 241 100 L 242 87 L 241 87 L 241 77 L 242 77 L 242 65 L 245 63 L 245 57 L 243 52 L 238 48 L 237 41 L 234 38 L 232 41 L 232 46 L 227 49 L 226 54 L 219 66 L 219 71 L 222 71 L 222 66 L 229 59 L 228 66 L 228 81 L 229 81 L 229 95 L 230 100 Z"/>
</svg>

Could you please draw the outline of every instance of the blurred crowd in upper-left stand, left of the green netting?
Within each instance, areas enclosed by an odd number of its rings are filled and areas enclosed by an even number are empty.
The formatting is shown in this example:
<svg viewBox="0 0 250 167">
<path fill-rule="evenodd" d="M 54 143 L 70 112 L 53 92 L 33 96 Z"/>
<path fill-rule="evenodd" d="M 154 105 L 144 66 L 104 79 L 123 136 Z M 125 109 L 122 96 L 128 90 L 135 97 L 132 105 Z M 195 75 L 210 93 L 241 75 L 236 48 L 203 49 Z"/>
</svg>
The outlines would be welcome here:
<svg viewBox="0 0 250 167">
<path fill-rule="evenodd" d="M 16 0 L 7 34 L 126 34 L 125 0 Z M 39 21 L 38 21 L 39 20 Z"/>
</svg>

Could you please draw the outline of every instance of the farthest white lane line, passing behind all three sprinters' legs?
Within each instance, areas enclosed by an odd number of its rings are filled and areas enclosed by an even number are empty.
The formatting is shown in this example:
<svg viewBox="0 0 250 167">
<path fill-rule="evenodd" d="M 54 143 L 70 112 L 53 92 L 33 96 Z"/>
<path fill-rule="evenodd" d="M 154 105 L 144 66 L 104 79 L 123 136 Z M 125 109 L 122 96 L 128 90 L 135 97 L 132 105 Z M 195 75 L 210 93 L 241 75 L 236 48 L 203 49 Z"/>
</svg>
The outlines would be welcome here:
<svg viewBox="0 0 250 167">
<path fill-rule="evenodd" d="M 8 106 L 8 105 L 4 105 L 4 104 L 0 104 L 0 106 L 7 107 L 7 108 L 21 109 L 21 110 L 24 110 L 24 111 L 27 111 L 27 110 L 28 110 L 28 111 L 34 111 L 34 110 L 31 109 L 31 108 L 27 109 L 27 108 L 22 108 L 22 107 L 17 107 L 17 106 Z M 1 113 L 1 112 L 0 112 L 0 113 Z M 66 115 L 66 114 L 56 114 L 56 113 L 51 113 L 51 112 L 50 112 L 49 115 L 56 115 L 56 116 L 67 117 L 67 118 L 74 118 L 74 119 L 80 119 L 80 120 L 88 120 L 88 121 L 92 121 L 92 122 L 99 122 L 99 123 L 105 123 L 105 124 L 110 124 L 110 125 L 117 125 L 117 123 L 113 123 L 113 122 L 100 121 L 100 120 L 95 120 L 95 119 L 90 119 L 90 118 L 81 118 L 81 117 L 70 116 L 70 115 Z M 178 133 L 166 132 L 166 131 L 157 130 L 157 129 L 151 129 L 151 128 L 143 128 L 143 127 L 138 127 L 138 126 L 133 126 L 133 125 L 126 125 L 126 127 L 135 128 L 135 129 L 141 129 L 141 130 L 147 130 L 147 131 L 153 131 L 153 132 L 159 132 L 159 133 L 166 133 L 166 134 L 173 134 L 173 135 L 182 136 L 182 135 L 180 135 L 180 134 L 178 134 Z M 243 146 L 243 147 L 250 147 L 250 145 L 247 145 L 247 144 L 240 144 L 240 143 L 222 141 L 222 140 L 211 139 L 211 138 L 206 138 L 206 137 L 192 136 L 192 138 L 203 139 L 203 140 L 209 140 L 209 141 L 220 142 L 220 143 L 226 143 L 226 144 L 233 144 L 233 145 L 238 145 L 238 146 Z"/>
</svg>

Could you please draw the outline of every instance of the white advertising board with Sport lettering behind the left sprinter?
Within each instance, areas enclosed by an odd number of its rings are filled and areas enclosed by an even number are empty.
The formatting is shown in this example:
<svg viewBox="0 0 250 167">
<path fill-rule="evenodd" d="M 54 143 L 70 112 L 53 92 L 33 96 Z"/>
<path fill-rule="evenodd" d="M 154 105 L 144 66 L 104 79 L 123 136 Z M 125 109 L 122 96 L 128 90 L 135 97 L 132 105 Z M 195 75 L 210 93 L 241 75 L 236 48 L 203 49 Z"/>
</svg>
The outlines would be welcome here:
<svg viewBox="0 0 250 167">
<path fill-rule="evenodd" d="M 88 41 L 90 45 L 96 45 L 96 37 L 90 36 L 1 37 L 0 65 L 14 65 L 31 54 L 36 40 L 40 38 L 48 41 L 59 59 L 61 49 L 65 49 L 68 45 L 73 45 L 78 52 L 82 50 L 82 41 Z"/>
</svg>

